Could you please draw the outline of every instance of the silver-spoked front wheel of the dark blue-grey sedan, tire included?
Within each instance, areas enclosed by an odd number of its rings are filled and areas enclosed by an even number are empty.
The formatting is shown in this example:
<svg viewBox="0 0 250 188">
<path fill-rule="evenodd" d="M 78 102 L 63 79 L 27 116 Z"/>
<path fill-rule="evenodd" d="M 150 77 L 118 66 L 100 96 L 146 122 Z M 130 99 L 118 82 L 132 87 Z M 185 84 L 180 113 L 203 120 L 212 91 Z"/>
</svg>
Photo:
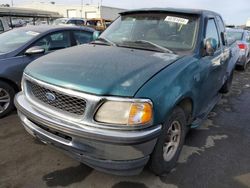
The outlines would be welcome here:
<svg viewBox="0 0 250 188">
<path fill-rule="evenodd" d="M 0 81 L 0 118 L 14 108 L 15 90 L 6 82 Z"/>
</svg>

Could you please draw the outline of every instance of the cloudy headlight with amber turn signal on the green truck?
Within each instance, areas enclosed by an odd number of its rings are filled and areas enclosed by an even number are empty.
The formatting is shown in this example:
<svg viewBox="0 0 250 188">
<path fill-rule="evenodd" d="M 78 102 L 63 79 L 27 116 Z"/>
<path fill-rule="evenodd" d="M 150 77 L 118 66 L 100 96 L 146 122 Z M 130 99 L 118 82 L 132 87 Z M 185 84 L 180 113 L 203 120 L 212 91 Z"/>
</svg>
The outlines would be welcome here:
<svg viewBox="0 0 250 188">
<path fill-rule="evenodd" d="M 141 125 L 149 123 L 152 117 L 149 102 L 107 101 L 97 111 L 95 120 L 118 125 Z"/>
</svg>

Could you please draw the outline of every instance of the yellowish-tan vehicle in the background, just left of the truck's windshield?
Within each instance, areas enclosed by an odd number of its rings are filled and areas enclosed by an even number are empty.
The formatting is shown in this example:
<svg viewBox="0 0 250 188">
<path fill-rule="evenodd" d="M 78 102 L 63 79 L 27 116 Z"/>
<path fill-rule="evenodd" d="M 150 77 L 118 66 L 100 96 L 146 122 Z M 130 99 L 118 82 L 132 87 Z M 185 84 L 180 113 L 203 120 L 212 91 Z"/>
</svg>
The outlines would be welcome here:
<svg viewBox="0 0 250 188">
<path fill-rule="evenodd" d="M 102 19 L 102 18 L 93 18 L 88 19 L 86 25 L 92 27 L 98 31 L 104 31 L 110 24 L 112 20 Z"/>
</svg>

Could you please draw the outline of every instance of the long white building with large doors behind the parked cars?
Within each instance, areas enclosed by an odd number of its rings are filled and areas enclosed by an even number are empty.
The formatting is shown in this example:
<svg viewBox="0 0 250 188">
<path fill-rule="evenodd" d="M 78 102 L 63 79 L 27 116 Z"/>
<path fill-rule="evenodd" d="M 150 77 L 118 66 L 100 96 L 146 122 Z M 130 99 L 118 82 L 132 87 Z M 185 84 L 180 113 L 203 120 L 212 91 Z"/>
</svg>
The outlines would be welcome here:
<svg viewBox="0 0 250 188">
<path fill-rule="evenodd" d="M 62 17 L 66 18 L 103 18 L 114 20 L 118 14 L 124 9 L 107 7 L 102 5 L 63 5 L 57 3 L 33 2 L 29 4 L 19 5 L 23 8 L 33 8 L 46 11 L 58 12 Z"/>
</svg>

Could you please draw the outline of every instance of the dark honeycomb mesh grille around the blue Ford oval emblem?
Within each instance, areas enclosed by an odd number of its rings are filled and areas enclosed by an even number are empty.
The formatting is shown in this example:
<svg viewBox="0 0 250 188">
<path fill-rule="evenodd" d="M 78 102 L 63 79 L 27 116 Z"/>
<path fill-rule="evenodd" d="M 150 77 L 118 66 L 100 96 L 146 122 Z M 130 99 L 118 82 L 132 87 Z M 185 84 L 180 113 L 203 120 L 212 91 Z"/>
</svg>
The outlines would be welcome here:
<svg viewBox="0 0 250 188">
<path fill-rule="evenodd" d="M 84 114 L 86 108 L 86 101 L 84 99 L 59 93 L 58 91 L 42 87 L 28 80 L 26 81 L 26 84 L 31 96 L 38 101 L 70 114 Z M 51 96 L 51 94 L 53 98 L 48 97 L 48 95 Z"/>
</svg>

